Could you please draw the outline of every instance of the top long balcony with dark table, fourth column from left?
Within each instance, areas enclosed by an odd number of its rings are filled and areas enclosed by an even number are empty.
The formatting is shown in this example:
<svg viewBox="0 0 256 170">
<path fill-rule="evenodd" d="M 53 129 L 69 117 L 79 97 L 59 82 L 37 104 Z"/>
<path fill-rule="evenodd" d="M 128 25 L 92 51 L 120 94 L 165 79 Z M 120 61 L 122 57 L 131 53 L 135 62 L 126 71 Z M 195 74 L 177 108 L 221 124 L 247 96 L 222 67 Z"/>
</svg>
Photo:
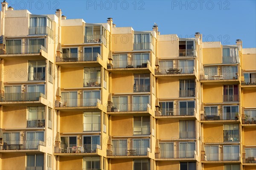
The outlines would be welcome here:
<svg viewBox="0 0 256 170">
<path fill-rule="evenodd" d="M 159 67 L 155 68 L 155 74 L 157 75 L 180 75 L 180 74 L 195 74 L 195 67 L 194 66 L 184 66 L 184 67 Z"/>
</svg>

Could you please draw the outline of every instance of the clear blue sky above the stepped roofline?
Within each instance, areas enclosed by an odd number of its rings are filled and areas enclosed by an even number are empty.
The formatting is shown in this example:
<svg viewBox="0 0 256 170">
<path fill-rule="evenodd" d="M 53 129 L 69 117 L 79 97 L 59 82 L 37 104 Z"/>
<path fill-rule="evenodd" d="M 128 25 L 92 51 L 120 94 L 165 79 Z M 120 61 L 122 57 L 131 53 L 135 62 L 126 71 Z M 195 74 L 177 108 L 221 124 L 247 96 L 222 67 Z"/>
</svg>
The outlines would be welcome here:
<svg viewBox="0 0 256 170">
<path fill-rule="evenodd" d="M 232 45 L 237 39 L 243 48 L 256 47 L 256 0 L 7 0 L 15 9 L 32 14 L 54 14 L 60 8 L 67 19 L 83 18 L 87 23 L 105 23 L 113 18 L 117 27 L 136 31 L 152 30 L 179 37 L 203 34 L 203 41 Z"/>
</svg>

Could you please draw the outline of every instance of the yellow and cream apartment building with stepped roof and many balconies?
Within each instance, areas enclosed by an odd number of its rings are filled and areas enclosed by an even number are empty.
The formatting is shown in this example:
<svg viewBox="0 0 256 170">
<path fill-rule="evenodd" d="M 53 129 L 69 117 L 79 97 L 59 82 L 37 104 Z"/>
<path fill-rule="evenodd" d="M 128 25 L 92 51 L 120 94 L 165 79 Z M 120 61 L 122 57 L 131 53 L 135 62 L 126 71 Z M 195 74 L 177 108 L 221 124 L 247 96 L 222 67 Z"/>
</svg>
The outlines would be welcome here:
<svg viewBox="0 0 256 170">
<path fill-rule="evenodd" d="M 256 48 L 1 4 L 0 169 L 256 169 Z"/>
</svg>

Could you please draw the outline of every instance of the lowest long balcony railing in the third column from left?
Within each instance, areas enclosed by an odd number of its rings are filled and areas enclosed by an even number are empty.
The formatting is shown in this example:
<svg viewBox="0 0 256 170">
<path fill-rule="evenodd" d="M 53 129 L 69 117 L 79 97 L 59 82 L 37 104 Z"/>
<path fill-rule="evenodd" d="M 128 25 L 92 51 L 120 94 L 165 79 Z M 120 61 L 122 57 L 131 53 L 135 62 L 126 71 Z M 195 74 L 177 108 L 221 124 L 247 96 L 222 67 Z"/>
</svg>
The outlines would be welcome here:
<svg viewBox="0 0 256 170">
<path fill-rule="evenodd" d="M 108 156 L 146 156 L 150 151 L 148 147 L 112 147 L 107 149 Z"/>
</svg>

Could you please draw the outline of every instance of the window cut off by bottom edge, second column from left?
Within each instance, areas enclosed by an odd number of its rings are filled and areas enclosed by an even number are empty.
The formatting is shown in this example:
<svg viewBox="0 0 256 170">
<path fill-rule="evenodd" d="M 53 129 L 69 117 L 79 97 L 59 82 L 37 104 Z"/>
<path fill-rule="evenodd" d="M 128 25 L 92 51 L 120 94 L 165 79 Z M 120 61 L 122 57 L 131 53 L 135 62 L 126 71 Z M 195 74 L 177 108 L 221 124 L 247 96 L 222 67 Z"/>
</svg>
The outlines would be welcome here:
<svg viewBox="0 0 256 170">
<path fill-rule="evenodd" d="M 100 157 L 83 157 L 83 169 L 84 170 L 99 170 L 100 169 Z"/>
</svg>

